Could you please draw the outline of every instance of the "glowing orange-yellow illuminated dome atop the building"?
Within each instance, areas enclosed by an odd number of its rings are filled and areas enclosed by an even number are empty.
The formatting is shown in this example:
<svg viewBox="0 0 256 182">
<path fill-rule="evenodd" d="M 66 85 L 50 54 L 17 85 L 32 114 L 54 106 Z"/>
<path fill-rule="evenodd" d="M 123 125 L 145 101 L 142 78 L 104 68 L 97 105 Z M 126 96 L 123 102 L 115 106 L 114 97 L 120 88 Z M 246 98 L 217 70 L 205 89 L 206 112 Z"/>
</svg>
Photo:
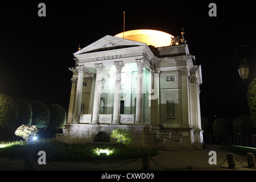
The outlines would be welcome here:
<svg viewBox="0 0 256 182">
<path fill-rule="evenodd" d="M 123 32 L 115 35 L 115 37 L 123 38 Z M 158 30 L 130 30 L 125 32 L 125 39 L 146 43 L 148 46 L 164 47 L 170 46 L 172 38 L 171 34 Z"/>
</svg>

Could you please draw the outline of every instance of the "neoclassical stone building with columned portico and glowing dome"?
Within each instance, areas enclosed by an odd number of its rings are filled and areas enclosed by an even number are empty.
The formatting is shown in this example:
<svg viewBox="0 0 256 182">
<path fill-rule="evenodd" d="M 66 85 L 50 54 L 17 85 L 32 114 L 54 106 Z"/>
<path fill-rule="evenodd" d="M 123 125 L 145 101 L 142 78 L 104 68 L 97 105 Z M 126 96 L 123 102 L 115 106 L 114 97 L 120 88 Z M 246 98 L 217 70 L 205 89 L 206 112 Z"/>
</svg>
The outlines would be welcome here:
<svg viewBox="0 0 256 182">
<path fill-rule="evenodd" d="M 201 67 L 181 39 L 133 30 L 75 52 L 63 142 L 113 142 L 113 129 L 133 134 L 133 146 L 201 148 Z M 179 147 L 177 147 L 179 146 Z"/>
</svg>

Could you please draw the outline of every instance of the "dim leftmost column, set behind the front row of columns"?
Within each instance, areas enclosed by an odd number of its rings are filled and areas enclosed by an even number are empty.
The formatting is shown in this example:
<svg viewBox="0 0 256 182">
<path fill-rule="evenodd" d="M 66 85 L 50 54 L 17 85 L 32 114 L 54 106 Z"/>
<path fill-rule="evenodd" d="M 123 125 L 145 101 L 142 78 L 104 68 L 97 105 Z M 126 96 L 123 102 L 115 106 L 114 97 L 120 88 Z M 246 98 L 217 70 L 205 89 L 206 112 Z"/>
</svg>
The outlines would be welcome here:
<svg viewBox="0 0 256 182">
<path fill-rule="evenodd" d="M 72 82 L 72 88 L 71 88 L 69 108 L 68 108 L 68 122 L 67 122 L 68 125 L 70 125 L 73 121 L 77 78 L 71 78 L 71 82 Z"/>
</svg>

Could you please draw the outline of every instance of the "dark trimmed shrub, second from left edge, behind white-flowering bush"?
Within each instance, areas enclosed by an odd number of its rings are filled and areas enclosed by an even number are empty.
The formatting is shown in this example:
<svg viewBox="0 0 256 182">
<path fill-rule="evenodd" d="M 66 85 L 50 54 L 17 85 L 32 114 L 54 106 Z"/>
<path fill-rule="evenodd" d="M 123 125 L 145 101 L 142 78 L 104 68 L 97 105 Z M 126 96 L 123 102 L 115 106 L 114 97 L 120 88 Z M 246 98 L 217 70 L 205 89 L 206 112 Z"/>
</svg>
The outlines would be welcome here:
<svg viewBox="0 0 256 182">
<path fill-rule="evenodd" d="M 19 114 L 16 120 L 15 127 L 18 128 L 21 125 L 31 125 L 32 122 L 32 107 L 30 102 L 23 100 L 22 98 L 13 97 L 14 101 L 18 105 Z"/>
</svg>

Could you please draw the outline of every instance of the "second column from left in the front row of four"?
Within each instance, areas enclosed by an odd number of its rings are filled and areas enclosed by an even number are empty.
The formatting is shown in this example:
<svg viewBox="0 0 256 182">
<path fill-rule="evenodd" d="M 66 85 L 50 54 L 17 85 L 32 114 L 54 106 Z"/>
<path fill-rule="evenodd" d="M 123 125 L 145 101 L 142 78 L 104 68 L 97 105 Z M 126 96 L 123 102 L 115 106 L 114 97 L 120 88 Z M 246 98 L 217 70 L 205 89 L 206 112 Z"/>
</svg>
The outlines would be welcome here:
<svg viewBox="0 0 256 182">
<path fill-rule="evenodd" d="M 101 71 L 105 68 L 103 63 L 94 64 L 96 67 L 96 83 L 94 90 L 93 118 L 91 124 L 98 124 L 98 113 L 100 111 L 101 98 Z"/>
</svg>

